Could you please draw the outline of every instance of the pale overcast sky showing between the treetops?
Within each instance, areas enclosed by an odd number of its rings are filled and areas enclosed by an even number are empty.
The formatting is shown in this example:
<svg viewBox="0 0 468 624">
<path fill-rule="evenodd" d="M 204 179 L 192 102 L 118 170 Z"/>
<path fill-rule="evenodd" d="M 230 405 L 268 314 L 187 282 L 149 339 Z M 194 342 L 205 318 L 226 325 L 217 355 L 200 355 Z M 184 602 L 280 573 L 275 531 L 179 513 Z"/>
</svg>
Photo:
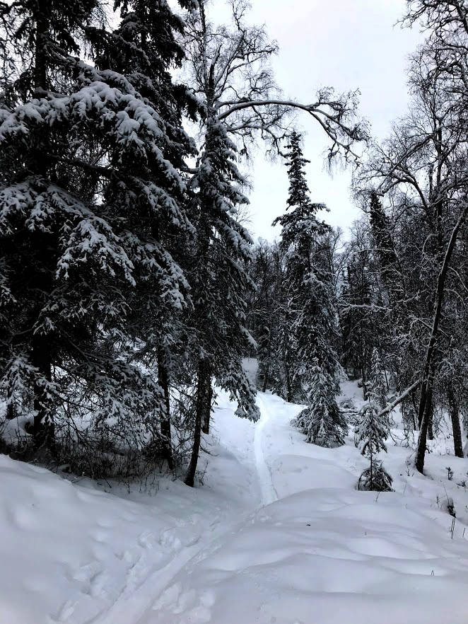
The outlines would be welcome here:
<svg viewBox="0 0 468 624">
<path fill-rule="evenodd" d="M 216 8 L 223 0 L 215 0 Z M 406 62 L 421 35 L 394 25 L 404 13 L 404 0 L 253 0 L 252 23 L 265 23 L 279 43 L 274 58 L 276 79 L 285 96 L 305 103 L 314 100 L 317 87 L 338 91 L 361 89 L 361 114 L 375 137 L 385 137 L 392 120 L 407 106 Z M 307 114 L 298 117 L 305 132 L 304 156 L 311 163 L 307 175 L 312 201 L 330 209 L 325 219 L 344 229 L 359 211 L 349 197 L 351 176 L 324 171 L 327 140 Z M 271 164 L 258 154 L 250 167 L 250 230 L 255 238 L 273 240 L 279 228 L 271 221 L 284 212 L 288 178 L 284 164 Z"/>
</svg>

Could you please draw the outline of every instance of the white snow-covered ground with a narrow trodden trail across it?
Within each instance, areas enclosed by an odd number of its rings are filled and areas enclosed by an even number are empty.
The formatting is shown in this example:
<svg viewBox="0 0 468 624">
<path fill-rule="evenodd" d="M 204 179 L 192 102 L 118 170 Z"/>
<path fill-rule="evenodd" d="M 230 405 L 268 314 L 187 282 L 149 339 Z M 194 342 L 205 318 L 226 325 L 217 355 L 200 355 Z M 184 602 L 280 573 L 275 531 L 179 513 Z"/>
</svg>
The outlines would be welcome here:
<svg viewBox="0 0 468 624">
<path fill-rule="evenodd" d="M 0 623 L 467 624 L 467 460 L 431 453 L 423 477 L 389 440 L 396 491 L 358 492 L 352 435 L 306 444 L 298 406 L 258 401 L 252 424 L 219 396 L 196 490 L 104 492 L 0 456 Z"/>
</svg>

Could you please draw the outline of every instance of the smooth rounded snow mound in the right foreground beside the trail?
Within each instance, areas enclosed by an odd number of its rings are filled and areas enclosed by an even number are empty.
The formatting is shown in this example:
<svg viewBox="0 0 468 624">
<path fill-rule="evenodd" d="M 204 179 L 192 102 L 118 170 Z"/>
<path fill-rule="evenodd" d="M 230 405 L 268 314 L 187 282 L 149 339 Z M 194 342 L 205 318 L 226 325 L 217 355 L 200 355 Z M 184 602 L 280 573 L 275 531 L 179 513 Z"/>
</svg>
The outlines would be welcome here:
<svg viewBox="0 0 468 624">
<path fill-rule="evenodd" d="M 192 562 L 144 622 L 466 624 L 468 544 L 419 504 L 331 488 L 283 498 Z"/>
</svg>

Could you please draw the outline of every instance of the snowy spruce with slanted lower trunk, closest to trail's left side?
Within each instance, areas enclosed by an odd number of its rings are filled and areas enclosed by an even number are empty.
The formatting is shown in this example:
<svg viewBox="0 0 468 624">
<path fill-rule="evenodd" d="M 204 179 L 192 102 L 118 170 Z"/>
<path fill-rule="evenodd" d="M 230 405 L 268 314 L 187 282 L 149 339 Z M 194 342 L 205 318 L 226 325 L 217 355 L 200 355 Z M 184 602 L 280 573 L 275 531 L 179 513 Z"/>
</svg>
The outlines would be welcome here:
<svg viewBox="0 0 468 624">
<path fill-rule="evenodd" d="M 244 262 L 250 260 L 252 241 L 235 215 L 236 207 L 248 200 L 240 190 L 244 180 L 235 165 L 235 145 L 210 112 L 206 123 L 205 146 L 191 181 L 191 216 L 197 227 L 192 270 L 197 407 L 185 483 L 192 486 L 201 427 L 204 424 L 208 429 L 209 424 L 212 377 L 238 401 L 239 416 L 251 420 L 259 417 L 255 388 L 242 369 L 242 355 L 252 342 L 245 328 L 247 289 L 252 282 L 244 267 Z"/>
</svg>

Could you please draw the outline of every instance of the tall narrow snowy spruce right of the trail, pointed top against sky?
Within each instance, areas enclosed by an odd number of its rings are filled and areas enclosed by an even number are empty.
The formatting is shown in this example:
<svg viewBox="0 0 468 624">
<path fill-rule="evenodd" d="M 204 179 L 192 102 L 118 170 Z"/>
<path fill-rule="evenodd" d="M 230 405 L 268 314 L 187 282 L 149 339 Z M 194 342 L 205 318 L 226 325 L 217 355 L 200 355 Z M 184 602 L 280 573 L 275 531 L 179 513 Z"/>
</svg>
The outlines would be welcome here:
<svg viewBox="0 0 468 624">
<path fill-rule="evenodd" d="M 288 152 L 288 209 L 274 223 L 283 226 L 281 245 L 286 251 L 286 282 L 293 319 L 292 394 L 308 403 L 297 424 L 307 439 L 320 446 L 343 444 L 346 422 L 336 396 L 337 313 L 330 267 L 323 253 L 327 226 L 317 220 L 323 204 L 310 201 L 305 180 L 300 134 L 293 132 Z"/>
</svg>

